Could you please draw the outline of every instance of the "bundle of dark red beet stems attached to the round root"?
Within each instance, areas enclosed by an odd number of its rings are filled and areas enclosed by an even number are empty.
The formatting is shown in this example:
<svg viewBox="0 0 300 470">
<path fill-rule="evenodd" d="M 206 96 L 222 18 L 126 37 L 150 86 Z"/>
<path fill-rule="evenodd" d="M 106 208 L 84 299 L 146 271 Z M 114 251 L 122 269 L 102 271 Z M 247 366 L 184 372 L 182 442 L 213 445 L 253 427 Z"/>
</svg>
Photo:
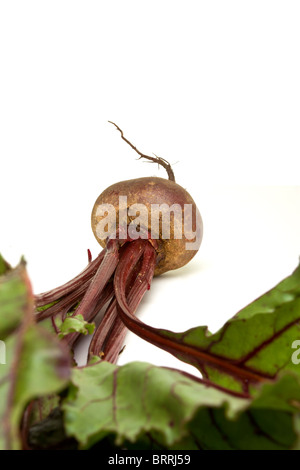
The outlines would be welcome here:
<svg viewBox="0 0 300 470">
<path fill-rule="evenodd" d="M 106 248 L 82 273 L 63 286 L 35 297 L 37 321 L 51 318 L 58 333 L 57 319 L 81 314 L 92 322 L 105 307 L 93 335 L 89 357 L 99 356 L 116 363 L 127 328 L 122 310 L 133 314 L 150 289 L 157 262 L 157 242 L 151 239 L 109 239 Z M 64 338 L 73 347 L 80 333 Z"/>
</svg>

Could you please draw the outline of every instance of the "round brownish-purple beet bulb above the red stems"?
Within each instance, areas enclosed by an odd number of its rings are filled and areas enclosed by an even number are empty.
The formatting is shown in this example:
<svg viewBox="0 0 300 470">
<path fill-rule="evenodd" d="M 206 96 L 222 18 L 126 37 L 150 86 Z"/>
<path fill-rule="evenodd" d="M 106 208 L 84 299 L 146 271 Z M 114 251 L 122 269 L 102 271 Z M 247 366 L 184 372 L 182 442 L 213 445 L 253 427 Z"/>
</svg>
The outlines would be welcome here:
<svg viewBox="0 0 300 470">
<path fill-rule="evenodd" d="M 134 221 L 134 215 L 128 215 L 128 209 L 136 204 L 143 205 L 148 213 L 147 225 L 142 227 L 149 233 L 151 239 L 151 220 L 154 217 L 159 218 L 158 233 L 155 233 L 155 239 L 158 242 L 158 252 L 160 259 L 155 267 L 154 275 L 162 274 L 166 271 L 178 269 L 187 264 L 197 253 L 202 240 L 203 225 L 200 213 L 190 194 L 174 181 L 157 177 L 145 177 L 121 181 L 109 186 L 97 198 L 92 211 L 92 229 L 100 245 L 105 247 L 106 240 L 100 238 L 97 234 L 97 227 L 105 215 L 97 215 L 100 206 L 111 204 L 116 211 L 117 227 L 119 221 L 119 197 L 126 196 L 127 199 L 127 222 Z M 176 205 L 178 212 L 169 211 L 169 208 Z M 162 205 L 164 208 L 162 208 Z M 157 206 L 162 210 L 158 211 Z M 190 210 L 187 209 L 190 206 Z M 164 210 L 163 210 L 164 209 Z M 185 210 L 186 209 L 186 210 Z M 159 212 L 159 214 L 158 214 Z M 180 213 L 180 214 L 179 214 Z M 179 217 L 178 217 L 179 215 Z M 169 217 L 169 219 L 168 219 Z M 178 221 L 177 221 L 178 218 Z M 186 220 L 190 218 L 191 220 Z M 180 220 L 181 219 L 181 220 Z M 169 238 L 163 236 L 163 224 L 169 221 Z M 180 227 L 178 233 L 181 238 L 176 238 L 175 224 Z M 184 226 L 185 224 L 185 226 Z M 188 233 L 186 233 L 188 230 Z M 115 228 L 108 226 L 107 236 Z M 197 245 L 197 249 L 187 249 L 189 243 Z"/>
</svg>

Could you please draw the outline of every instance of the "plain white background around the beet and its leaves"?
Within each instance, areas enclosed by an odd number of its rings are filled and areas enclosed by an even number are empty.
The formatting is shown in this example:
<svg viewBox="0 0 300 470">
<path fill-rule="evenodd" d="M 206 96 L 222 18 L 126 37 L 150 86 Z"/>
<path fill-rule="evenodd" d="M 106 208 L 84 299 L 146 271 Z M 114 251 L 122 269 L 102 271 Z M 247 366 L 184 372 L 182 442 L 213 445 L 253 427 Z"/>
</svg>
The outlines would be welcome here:
<svg viewBox="0 0 300 470">
<path fill-rule="evenodd" d="M 109 119 L 174 164 L 204 220 L 197 257 L 154 280 L 144 321 L 216 331 L 293 271 L 299 23 L 298 1 L 0 2 L 0 250 L 13 264 L 25 255 L 34 292 L 98 253 L 100 192 L 165 175 L 136 161 Z M 180 365 L 126 343 L 120 363 Z"/>
</svg>

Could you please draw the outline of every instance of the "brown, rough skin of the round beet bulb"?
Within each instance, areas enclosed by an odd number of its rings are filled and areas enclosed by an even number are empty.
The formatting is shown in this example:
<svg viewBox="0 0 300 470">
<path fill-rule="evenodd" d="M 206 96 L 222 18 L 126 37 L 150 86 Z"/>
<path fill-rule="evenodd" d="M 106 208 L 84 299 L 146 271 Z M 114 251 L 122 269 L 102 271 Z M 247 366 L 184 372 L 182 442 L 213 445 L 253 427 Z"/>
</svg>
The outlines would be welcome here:
<svg viewBox="0 0 300 470">
<path fill-rule="evenodd" d="M 172 206 L 173 204 L 179 204 L 182 211 L 184 209 L 184 204 L 192 205 L 192 230 L 196 231 L 197 228 L 197 240 L 198 248 L 201 243 L 202 233 L 203 233 L 203 224 L 202 219 L 199 214 L 199 211 L 196 207 L 196 204 L 190 194 L 181 186 L 179 186 L 174 181 L 170 181 L 164 178 L 157 177 L 145 177 L 132 179 L 127 181 L 121 181 L 109 186 L 107 189 L 100 194 L 97 198 L 93 211 L 92 211 L 92 229 L 94 235 L 102 247 L 105 246 L 106 241 L 99 239 L 96 233 L 96 226 L 99 220 L 103 217 L 96 215 L 97 208 L 101 204 L 112 204 L 116 210 L 118 217 L 119 213 L 119 196 L 127 196 L 127 208 L 133 204 L 143 204 L 148 209 L 149 214 L 149 223 L 148 227 L 143 227 L 151 233 L 151 204 L 167 204 Z M 198 212 L 198 225 L 196 227 L 196 211 Z M 131 217 L 133 220 L 135 217 Z M 160 214 L 160 220 L 162 215 Z M 128 223 L 130 223 L 130 217 L 128 217 Z M 117 219 L 118 220 L 118 219 Z M 159 230 L 159 254 L 158 264 L 155 268 L 155 275 L 162 274 L 166 271 L 180 268 L 187 264 L 197 253 L 198 249 L 187 250 L 186 243 L 193 241 L 191 237 L 188 237 L 184 232 L 183 228 L 183 216 L 182 216 L 182 239 L 174 238 L 174 217 L 171 212 L 171 222 L 170 222 L 170 239 L 162 239 L 161 225 Z M 108 228 L 107 235 L 109 236 L 110 229 Z M 195 240 L 195 238 L 194 238 Z"/>
</svg>

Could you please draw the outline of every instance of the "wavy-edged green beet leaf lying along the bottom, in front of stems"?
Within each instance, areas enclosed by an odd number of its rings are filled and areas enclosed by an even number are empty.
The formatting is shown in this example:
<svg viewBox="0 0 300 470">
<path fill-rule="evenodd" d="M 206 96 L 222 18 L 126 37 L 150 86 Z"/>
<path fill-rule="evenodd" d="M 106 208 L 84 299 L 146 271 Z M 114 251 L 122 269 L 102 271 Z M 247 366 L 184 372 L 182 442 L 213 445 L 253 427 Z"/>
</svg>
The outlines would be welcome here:
<svg viewBox="0 0 300 470">
<path fill-rule="evenodd" d="M 142 362 L 75 369 L 65 399 L 66 432 L 82 448 L 113 436 L 125 448 L 292 449 L 300 379 L 284 375 L 255 399 L 189 374 Z"/>
</svg>

